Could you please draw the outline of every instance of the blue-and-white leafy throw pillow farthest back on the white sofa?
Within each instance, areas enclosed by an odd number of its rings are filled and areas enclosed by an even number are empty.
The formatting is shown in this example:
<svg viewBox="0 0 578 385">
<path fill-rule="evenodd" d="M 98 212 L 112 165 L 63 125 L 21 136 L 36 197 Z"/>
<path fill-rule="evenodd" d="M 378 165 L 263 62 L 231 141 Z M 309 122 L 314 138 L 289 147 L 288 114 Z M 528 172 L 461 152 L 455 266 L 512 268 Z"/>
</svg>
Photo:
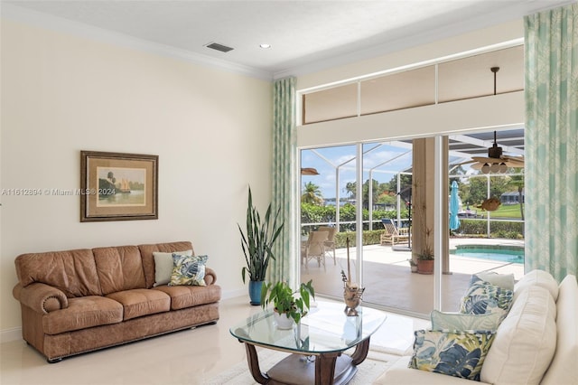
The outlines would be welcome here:
<svg viewBox="0 0 578 385">
<path fill-rule="evenodd" d="M 460 313 L 467 315 L 499 313 L 503 319 L 508 315 L 513 296 L 512 290 L 477 279 L 461 298 Z"/>
</svg>

